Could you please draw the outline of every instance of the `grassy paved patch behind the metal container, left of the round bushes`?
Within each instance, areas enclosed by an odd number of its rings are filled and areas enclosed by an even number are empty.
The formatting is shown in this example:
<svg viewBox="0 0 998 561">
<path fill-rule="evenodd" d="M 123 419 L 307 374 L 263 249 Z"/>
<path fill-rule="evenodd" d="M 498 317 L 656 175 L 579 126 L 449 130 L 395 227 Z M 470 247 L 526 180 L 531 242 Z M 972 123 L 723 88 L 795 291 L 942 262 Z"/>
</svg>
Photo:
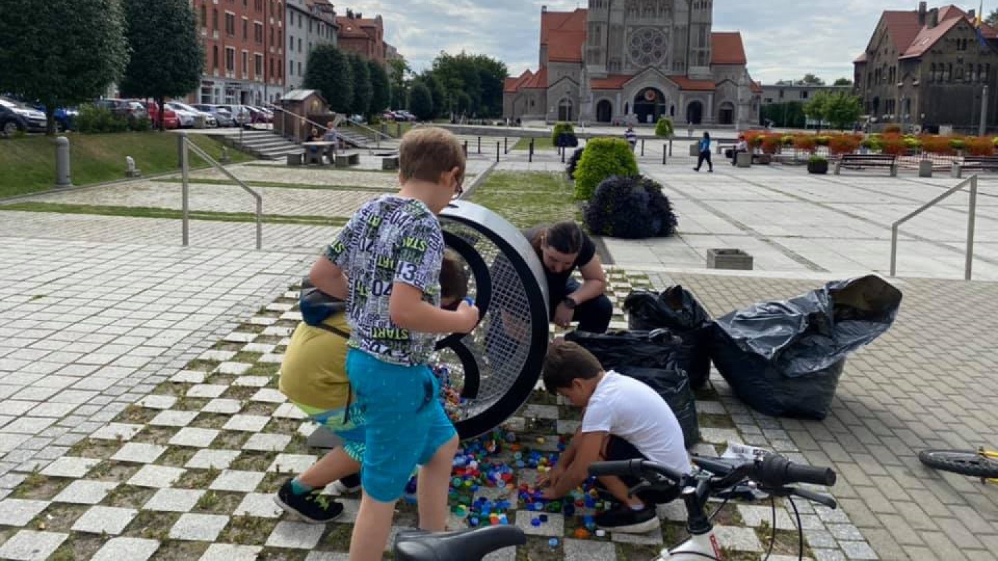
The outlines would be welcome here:
<svg viewBox="0 0 998 561">
<path fill-rule="evenodd" d="M 471 194 L 471 202 L 491 209 L 517 228 L 561 221 L 582 223 L 565 174 L 495 172 Z"/>
</svg>

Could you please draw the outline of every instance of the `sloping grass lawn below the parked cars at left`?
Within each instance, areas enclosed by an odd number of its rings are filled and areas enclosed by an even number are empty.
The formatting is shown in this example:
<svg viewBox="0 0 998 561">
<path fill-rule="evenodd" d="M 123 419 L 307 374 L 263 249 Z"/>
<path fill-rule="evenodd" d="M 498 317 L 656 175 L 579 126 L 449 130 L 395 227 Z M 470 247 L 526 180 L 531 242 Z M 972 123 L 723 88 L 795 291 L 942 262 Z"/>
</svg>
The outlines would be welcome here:
<svg viewBox="0 0 998 561">
<path fill-rule="evenodd" d="M 109 135 L 66 135 L 70 142 L 70 170 L 73 185 L 83 186 L 125 179 L 125 157 L 135 159 L 145 175 L 178 170 L 177 135 L 174 133 L 118 133 Z M 190 135 L 202 150 L 218 160 L 222 144 L 205 135 Z M 230 150 L 233 162 L 253 158 Z M 204 168 L 191 154 L 192 168 Z M 31 136 L 0 140 L 0 198 L 48 191 L 55 185 L 55 140 Z"/>
</svg>

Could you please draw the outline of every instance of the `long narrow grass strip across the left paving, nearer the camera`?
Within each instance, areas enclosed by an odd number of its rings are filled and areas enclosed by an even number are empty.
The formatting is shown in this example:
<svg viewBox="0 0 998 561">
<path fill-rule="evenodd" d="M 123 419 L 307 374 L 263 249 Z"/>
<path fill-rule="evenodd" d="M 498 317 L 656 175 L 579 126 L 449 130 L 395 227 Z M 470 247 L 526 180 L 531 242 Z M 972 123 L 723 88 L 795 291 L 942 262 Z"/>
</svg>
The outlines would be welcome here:
<svg viewBox="0 0 998 561">
<path fill-rule="evenodd" d="M 3 211 L 26 211 L 31 213 L 59 213 L 64 215 L 101 215 L 107 217 L 134 217 L 142 219 L 174 219 L 184 218 L 184 213 L 175 209 L 156 209 L 152 207 L 105 207 L 97 205 L 64 205 L 61 203 L 13 203 L 0 207 Z M 213 222 L 255 222 L 256 215 L 252 213 L 213 213 L 208 211 L 191 211 L 191 220 Z M 341 217 L 308 217 L 263 215 L 261 222 L 267 224 L 303 224 L 308 226 L 343 226 L 347 219 Z"/>
</svg>

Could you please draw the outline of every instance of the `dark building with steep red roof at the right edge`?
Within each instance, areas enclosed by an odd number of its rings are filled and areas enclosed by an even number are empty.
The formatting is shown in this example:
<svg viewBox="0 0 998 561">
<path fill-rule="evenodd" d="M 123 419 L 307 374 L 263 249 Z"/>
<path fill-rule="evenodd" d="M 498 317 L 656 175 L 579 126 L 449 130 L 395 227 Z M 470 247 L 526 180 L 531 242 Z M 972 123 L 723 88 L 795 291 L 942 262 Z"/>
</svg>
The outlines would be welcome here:
<svg viewBox="0 0 998 561">
<path fill-rule="evenodd" d="M 935 132 L 976 132 L 990 86 L 988 126 L 998 125 L 998 31 L 974 10 L 949 5 L 884 11 L 854 61 L 854 84 L 867 115 Z"/>
</svg>

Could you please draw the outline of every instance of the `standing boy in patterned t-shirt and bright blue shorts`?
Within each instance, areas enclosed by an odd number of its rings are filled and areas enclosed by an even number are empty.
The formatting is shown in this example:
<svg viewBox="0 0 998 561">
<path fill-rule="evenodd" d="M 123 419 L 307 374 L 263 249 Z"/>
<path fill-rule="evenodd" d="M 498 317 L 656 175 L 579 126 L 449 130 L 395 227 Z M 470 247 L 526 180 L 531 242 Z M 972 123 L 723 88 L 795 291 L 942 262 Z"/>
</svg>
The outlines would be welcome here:
<svg viewBox="0 0 998 561">
<path fill-rule="evenodd" d="M 478 322 L 478 308 L 467 302 L 455 311 L 439 307 L 444 243 L 436 215 L 460 193 L 464 165 L 449 132 L 407 133 L 398 195 L 361 207 L 311 271 L 316 287 L 347 299 L 346 373 L 366 422 L 351 561 L 381 558 L 395 501 L 416 465 L 419 526 L 445 529 L 457 432 L 426 362 L 434 333 L 469 332 Z"/>
</svg>

